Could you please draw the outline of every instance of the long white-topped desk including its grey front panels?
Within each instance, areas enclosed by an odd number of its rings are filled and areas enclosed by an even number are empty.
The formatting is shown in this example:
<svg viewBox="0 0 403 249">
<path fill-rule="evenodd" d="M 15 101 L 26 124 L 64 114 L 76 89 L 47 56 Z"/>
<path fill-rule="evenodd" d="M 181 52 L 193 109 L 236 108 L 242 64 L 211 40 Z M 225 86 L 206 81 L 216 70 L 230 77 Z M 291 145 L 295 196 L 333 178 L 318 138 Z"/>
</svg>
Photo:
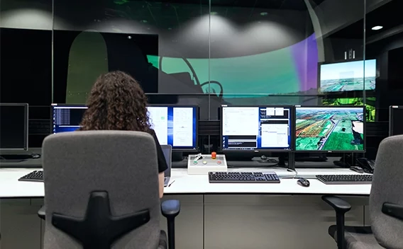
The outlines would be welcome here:
<svg viewBox="0 0 403 249">
<path fill-rule="evenodd" d="M 27 248 L 27 245 L 40 248 L 43 224 L 36 211 L 43 204 L 43 183 L 18 182 L 18 178 L 32 170 L 35 169 L 0 168 L 2 249 Z M 280 178 L 294 175 L 284 168 L 228 170 L 275 171 Z M 334 168 L 297 170 L 298 176 L 305 178 L 355 174 Z M 187 175 L 182 168 L 172 169 L 173 180 L 171 187 L 165 187 L 164 198 L 180 199 L 182 203 L 177 218 L 178 249 L 336 248 L 327 235 L 327 228 L 335 223 L 335 215 L 321 201 L 321 195 L 326 194 L 346 196 L 352 204 L 347 224 L 368 225 L 365 209 L 370 185 L 325 185 L 316 179 L 309 179 L 310 187 L 297 185 L 297 179 L 282 179 L 280 184 L 211 184 L 207 175 Z M 161 227 L 166 227 L 165 219 L 161 219 Z"/>
</svg>

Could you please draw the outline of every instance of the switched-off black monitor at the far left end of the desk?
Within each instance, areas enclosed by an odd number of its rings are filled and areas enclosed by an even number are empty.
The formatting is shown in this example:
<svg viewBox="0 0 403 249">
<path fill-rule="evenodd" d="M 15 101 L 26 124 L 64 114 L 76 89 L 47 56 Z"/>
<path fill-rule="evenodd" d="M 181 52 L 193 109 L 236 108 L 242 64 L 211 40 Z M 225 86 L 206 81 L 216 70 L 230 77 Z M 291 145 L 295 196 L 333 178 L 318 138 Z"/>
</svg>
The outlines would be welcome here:
<svg viewBox="0 0 403 249">
<path fill-rule="evenodd" d="M 0 103 L 0 151 L 28 151 L 28 104 Z"/>
</svg>

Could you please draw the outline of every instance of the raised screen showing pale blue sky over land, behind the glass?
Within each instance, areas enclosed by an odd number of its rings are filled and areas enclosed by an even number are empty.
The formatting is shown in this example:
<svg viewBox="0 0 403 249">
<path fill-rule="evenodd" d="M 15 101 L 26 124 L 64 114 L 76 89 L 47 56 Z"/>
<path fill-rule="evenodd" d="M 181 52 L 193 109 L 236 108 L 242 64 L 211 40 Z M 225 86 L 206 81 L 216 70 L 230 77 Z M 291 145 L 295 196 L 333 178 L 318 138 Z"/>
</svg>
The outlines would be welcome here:
<svg viewBox="0 0 403 249">
<path fill-rule="evenodd" d="M 363 91 L 364 84 L 365 90 L 375 90 L 376 64 L 376 59 L 365 60 L 365 66 L 363 61 L 321 64 L 321 91 Z"/>
</svg>

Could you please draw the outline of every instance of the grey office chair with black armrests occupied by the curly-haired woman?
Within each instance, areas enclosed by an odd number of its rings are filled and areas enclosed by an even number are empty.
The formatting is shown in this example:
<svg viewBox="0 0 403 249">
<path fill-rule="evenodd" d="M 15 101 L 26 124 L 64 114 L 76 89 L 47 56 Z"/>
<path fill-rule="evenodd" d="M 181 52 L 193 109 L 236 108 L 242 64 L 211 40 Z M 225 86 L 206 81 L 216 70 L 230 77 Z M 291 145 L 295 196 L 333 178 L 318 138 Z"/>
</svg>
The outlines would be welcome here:
<svg viewBox="0 0 403 249">
<path fill-rule="evenodd" d="M 86 131 L 43 141 L 43 248 L 175 249 L 177 200 L 160 205 L 155 142 L 145 132 Z M 168 236 L 160 231 L 160 211 Z"/>
</svg>

